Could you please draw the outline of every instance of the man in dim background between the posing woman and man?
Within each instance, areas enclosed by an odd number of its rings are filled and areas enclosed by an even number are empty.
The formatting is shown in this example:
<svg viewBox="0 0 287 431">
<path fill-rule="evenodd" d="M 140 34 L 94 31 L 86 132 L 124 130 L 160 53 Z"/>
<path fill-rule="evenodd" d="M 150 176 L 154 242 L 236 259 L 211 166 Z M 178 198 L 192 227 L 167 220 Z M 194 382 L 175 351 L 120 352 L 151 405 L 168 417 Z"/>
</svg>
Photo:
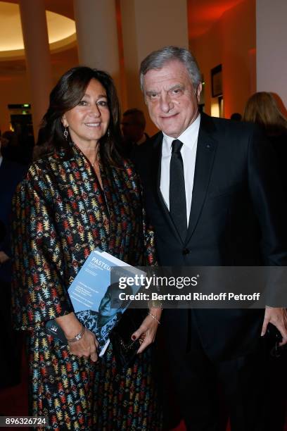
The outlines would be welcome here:
<svg viewBox="0 0 287 431">
<path fill-rule="evenodd" d="M 144 132 L 146 118 L 143 111 L 137 108 L 128 109 L 122 114 L 122 135 L 125 139 L 127 153 L 130 154 L 134 145 L 146 142 L 148 135 Z"/>
</svg>

